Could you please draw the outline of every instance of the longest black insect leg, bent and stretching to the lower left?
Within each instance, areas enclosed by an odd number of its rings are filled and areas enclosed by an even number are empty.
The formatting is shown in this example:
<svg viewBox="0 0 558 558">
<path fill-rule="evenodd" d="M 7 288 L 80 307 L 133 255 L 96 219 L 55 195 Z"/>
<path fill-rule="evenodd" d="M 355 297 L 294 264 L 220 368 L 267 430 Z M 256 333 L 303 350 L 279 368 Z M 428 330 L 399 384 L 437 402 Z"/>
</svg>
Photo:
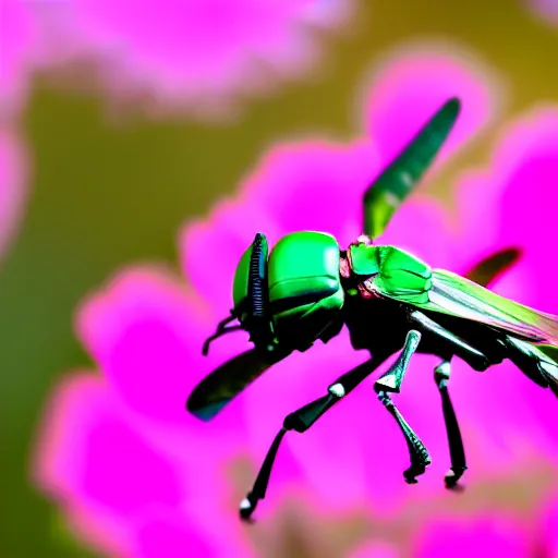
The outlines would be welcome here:
<svg viewBox="0 0 558 558">
<path fill-rule="evenodd" d="M 240 515 L 242 519 L 248 519 L 256 509 L 258 500 L 263 500 L 266 497 L 266 490 L 269 484 L 274 461 L 286 433 L 289 430 L 294 430 L 298 433 L 306 432 L 326 411 L 331 409 L 339 400 L 350 393 L 388 356 L 389 354 L 386 356 L 378 355 L 372 357 L 352 371 L 343 374 L 329 386 L 327 396 L 316 399 L 312 403 L 302 407 L 284 418 L 283 426 L 275 437 L 274 442 L 267 452 L 252 490 L 246 495 L 240 505 Z"/>
</svg>

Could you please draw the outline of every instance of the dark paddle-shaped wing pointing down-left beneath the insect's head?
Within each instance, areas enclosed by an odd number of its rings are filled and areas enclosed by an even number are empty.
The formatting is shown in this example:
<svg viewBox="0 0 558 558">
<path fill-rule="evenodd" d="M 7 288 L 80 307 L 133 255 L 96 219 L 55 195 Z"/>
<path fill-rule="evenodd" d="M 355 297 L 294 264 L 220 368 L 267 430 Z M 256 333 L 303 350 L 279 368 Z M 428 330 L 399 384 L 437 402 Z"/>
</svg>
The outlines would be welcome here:
<svg viewBox="0 0 558 558">
<path fill-rule="evenodd" d="M 194 388 L 186 409 L 198 418 L 210 421 L 269 366 L 271 363 L 255 349 L 234 356 Z"/>
</svg>

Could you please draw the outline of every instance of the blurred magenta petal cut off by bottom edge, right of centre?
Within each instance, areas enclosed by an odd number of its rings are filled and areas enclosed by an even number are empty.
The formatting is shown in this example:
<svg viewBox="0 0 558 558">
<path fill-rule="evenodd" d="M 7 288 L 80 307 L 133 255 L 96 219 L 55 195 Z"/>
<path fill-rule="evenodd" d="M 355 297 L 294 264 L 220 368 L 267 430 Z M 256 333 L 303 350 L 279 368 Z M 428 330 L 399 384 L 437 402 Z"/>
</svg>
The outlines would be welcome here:
<svg viewBox="0 0 558 558">
<path fill-rule="evenodd" d="M 421 530 L 413 556 L 421 558 L 524 558 L 529 536 L 519 520 L 504 513 L 434 520 Z"/>
</svg>

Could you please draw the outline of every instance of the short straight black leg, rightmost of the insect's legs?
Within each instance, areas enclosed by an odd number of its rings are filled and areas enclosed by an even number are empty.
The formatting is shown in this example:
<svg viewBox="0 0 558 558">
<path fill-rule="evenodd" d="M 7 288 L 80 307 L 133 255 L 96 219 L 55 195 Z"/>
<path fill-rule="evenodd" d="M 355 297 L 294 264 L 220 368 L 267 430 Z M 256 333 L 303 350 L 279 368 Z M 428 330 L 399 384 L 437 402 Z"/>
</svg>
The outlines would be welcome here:
<svg viewBox="0 0 558 558">
<path fill-rule="evenodd" d="M 441 397 L 441 408 L 444 411 L 444 422 L 446 423 L 446 432 L 448 434 L 449 454 L 451 459 L 451 468 L 446 473 L 445 482 L 447 488 L 453 488 L 463 473 L 466 471 L 465 450 L 463 449 L 463 439 L 459 429 L 459 423 L 456 417 L 456 411 L 451 403 L 448 392 L 448 381 L 451 373 L 451 364 L 449 361 L 441 362 L 434 368 L 434 379 L 438 386 Z"/>
</svg>

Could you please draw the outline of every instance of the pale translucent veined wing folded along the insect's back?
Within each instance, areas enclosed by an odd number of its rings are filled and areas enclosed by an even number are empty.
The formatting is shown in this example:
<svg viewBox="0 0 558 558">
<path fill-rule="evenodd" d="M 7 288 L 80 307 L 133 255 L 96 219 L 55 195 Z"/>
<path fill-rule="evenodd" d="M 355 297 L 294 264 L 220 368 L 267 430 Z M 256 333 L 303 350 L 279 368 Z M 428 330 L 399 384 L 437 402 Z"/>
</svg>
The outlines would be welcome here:
<svg viewBox="0 0 558 558">
<path fill-rule="evenodd" d="M 558 345 L 558 316 L 500 296 L 445 269 L 435 269 L 428 302 L 418 307 L 480 322 L 527 341 Z"/>
</svg>

